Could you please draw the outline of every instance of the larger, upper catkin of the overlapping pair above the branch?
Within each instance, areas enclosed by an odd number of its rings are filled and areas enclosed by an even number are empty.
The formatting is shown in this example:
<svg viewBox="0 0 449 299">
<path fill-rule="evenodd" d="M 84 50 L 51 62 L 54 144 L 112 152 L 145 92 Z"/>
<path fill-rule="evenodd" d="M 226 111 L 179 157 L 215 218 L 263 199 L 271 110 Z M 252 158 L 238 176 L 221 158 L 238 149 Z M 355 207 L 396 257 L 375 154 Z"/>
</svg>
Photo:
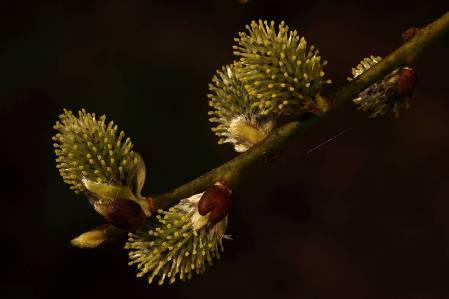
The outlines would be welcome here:
<svg viewBox="0 0 449 299">
<path fill-rule="evenodd" d="M 237 76 L 248 94 L 256 100 L 253 106 L 263 108 L 263 114 L 319 114 L 321 107 L 315 96 L 324 84 L 323 67 L 318 50 L 307 46 L 304 37 L 290 31 L 281 22 L 253 21 L 235 39 L 234 54 L 240 57 Z"/>
</svg>

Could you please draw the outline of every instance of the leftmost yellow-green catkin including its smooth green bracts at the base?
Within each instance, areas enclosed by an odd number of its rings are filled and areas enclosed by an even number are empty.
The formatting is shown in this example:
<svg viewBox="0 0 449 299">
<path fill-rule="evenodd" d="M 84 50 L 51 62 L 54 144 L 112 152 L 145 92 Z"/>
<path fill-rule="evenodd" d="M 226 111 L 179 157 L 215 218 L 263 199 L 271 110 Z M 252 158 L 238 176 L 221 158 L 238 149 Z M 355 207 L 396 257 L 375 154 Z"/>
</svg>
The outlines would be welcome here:
<svg viewBox="0 0 449 299">
<path fill-rule="evenodd" d="M 64 182 L 75 193 L 85 193 L 102 215 L 117 198 L 137 202 L 149 215 L 148 203 L 140 194 L 145 163 L 133 151 L 130 138 L 113 121 L 106 122 L 106 116 L 97 118 L 84 109 L 77 116 L 64 110 L 59 118 L 53 146 Z"/>
</svg>

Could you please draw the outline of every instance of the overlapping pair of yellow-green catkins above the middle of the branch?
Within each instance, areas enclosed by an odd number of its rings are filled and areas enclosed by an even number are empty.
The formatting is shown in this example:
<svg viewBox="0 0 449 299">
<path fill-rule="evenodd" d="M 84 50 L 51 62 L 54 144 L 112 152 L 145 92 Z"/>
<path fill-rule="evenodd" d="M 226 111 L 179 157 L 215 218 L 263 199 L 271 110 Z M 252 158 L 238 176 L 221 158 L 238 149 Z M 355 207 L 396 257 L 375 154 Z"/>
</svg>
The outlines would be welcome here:
<svg viewBox="0 0 449 299">
<path fill-rule="evenodd" d="M 281 116 L 321 114 L 329 106 L 319 92 L 324 84 L 318 50 L 282 22 L 253 21 L 236 38 L 238 62 L 217 71 L 209 85 L 209 105 L 219 143 L 244 152 L 264 140 Z"/>
</svg>

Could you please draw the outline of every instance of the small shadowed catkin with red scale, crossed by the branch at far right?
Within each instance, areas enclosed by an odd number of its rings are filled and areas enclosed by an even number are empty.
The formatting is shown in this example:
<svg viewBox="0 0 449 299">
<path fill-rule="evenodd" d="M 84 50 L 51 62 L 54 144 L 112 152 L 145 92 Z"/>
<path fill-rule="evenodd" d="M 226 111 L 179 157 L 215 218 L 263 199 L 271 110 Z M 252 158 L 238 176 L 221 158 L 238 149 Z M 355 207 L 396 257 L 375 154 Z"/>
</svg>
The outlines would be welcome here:
<svg viewBox="0 0 449 299">
<path fill-rule="evenodd" d="M 356 79 L 380 60 L 380 57 L 374 56 L 363 59 L 352 69 L 353 78 L 348 80 Z M 408 98 L 415 85 L 414 70 L 410 67 L 400 67 L 360 92 L 353 102 L 358 105 L 358 109 L 370 112 L 370 117 L 383 116 L 389 111 L 398 117 L 401 109 L 410 107 Z"/>
</svg>

